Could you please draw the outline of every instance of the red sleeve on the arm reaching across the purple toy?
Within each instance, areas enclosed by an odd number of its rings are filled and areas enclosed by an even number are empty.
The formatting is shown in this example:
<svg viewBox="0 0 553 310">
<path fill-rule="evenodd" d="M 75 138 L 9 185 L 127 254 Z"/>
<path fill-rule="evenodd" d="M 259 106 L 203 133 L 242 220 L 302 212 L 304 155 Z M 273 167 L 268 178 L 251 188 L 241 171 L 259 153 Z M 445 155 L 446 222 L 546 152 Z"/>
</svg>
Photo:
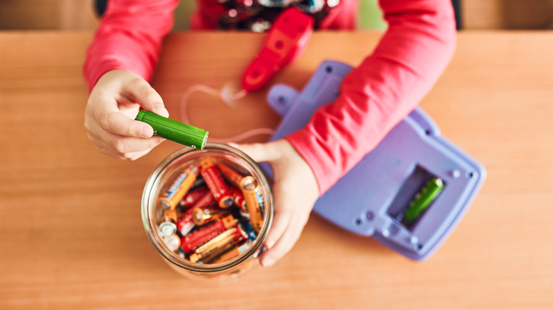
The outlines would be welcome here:
<svg viewBox="0 0 553 310">
<path fill-rule="evenodd" d="M 321 195 L 418 105 L 454 53 L 451 1 L 380 5 L 389 28 L 379 45 L 345 77 L 334 103 L 286 137 L 311 166 Z"/>
</svg>

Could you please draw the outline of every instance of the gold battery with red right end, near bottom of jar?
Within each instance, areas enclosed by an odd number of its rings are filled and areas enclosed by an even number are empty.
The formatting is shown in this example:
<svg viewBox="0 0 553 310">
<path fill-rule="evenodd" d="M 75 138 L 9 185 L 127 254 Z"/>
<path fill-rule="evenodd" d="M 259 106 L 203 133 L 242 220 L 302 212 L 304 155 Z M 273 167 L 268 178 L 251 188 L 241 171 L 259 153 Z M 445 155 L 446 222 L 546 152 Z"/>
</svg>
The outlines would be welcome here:
<svg viewBox="0 0 553 310">
<path fill-rule="evenodd" d="M 197 263 L 199 260 L 202 260 L 202 262 L 212 260 L 245 239 L 247 239 L 247 236 L 240 225 L 233 226 L 196 248 L 194 253 L 190 255 L 190 261 Z"/>
</svg>

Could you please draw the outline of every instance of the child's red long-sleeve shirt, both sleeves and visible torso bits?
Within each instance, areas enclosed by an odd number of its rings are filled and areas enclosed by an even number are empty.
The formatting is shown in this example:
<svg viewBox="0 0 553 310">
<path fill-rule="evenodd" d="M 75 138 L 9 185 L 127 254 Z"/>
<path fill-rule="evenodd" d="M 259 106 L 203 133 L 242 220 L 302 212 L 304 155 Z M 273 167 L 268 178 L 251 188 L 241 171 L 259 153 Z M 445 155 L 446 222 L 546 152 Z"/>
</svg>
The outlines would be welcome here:
<svg viewBox="0 0 553 310">
<path fill-rule="evenodd" d="M 220 14 L 200 0 L 195 29 L 215 28 Z M 150 80 L 164 35 L 172 28 L 178 0 L 109 0 L 86 54 L 84 76 L 93 88 L 106 71 L 127 69 Z M 334 103 L 286 139 L 311 166 L 320 194 L 374 149 L 430 91 L 452 57 L 456 33 L 447 0 L 380 0 L 388 30 L 374 52 L 350 71 Z M 319 23 L 322 29 L 352 29 L 356 0 L 342 0 Z"/>
</svg>

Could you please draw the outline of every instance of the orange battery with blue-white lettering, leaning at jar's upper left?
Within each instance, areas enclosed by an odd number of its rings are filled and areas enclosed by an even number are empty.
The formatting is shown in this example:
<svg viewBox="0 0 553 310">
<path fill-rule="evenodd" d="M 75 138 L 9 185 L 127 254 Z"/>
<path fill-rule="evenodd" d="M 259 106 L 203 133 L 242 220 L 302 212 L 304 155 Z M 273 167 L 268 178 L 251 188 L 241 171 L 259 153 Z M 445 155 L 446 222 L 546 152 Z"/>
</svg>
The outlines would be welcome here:
<svg viewBox="0 0 553 310">
<path fill-rule="evenodd" d="M 171 186 L 160 195 L 157 199 L 157 204 L 163 209 L 174 209 L 177 207 L 184 195 L 190 190 L 192 184 L 194 184 L 196 176 L 198 176 L 198 167 L 192 163 L 186 166 Z"/>
</svg>

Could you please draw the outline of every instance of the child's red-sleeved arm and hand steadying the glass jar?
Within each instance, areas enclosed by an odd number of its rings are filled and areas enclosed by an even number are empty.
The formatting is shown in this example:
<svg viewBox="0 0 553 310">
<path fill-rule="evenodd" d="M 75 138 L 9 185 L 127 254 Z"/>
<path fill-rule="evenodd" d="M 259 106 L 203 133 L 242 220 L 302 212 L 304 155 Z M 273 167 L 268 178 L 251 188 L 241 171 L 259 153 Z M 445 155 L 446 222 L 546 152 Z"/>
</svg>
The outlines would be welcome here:
<svg viewBox="0 0 553 310">
<path fill-rule="evenodd" d="M 449 1 L 380 4 L 389 29 L 374 53 L 342 81 L 337 101 L 286 137 L 291 145 L 279 140 L 239 146 L 269 162 L 275 176 L 275 214 L 263 265 L 272 265 L 294 246 L 318 195 L 415 108 L 452 57 L 456 33 Z"/>
</svg>

